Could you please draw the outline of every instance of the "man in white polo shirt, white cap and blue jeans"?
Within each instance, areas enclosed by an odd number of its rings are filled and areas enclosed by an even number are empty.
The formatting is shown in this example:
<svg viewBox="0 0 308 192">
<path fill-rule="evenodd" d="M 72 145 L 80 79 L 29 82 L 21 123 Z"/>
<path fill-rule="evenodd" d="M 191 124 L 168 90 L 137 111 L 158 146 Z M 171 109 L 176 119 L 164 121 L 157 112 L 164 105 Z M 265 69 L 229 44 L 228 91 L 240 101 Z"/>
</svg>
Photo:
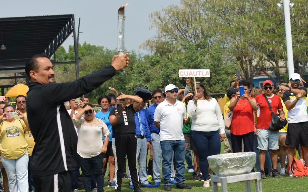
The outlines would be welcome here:
<svg viewBox="0 0 308 192">
<path fill-rule="evenodd" d="M 165 87 L 167 99 L 161 102 L 154 113 L 154 124 L 160 129 L 160 146 L 163 154 L 162 173 L 164 190 L 171 190 L 171 162 L 173 152 L 176 160 L 176 188 L 191 189 L 192 186 L 184 183 L 185 171 L 185 140 L 183 123 L 186 119 L 184 103 L 176 99 L 179 88 L 173 84 Z"/>
</svg>

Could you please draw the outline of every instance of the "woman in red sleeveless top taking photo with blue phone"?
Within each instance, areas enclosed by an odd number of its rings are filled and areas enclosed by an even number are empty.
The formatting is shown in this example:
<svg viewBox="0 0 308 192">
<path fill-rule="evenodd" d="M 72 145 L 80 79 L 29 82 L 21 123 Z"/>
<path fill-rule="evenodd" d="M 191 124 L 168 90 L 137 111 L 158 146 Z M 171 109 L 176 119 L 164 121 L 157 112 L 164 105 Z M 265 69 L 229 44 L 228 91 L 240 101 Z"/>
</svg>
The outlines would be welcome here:
<svg viewBox="0 0 308 192">
<path fill-rule="evenodd" d="M 253 152 L 253 111 L 258 108 L 256 100 L 249 97 L 249 82 L 241 81 L 240 86 L 244 86 L 245 94 L 240 97 L 240 93 L 237 92 L 237 97 L 232 98 L 229 105 L 230 111 L 233 111 L 230 129 L 233 153 L 242 152 L 242 141 L 244 152 Z"/>
</svg>

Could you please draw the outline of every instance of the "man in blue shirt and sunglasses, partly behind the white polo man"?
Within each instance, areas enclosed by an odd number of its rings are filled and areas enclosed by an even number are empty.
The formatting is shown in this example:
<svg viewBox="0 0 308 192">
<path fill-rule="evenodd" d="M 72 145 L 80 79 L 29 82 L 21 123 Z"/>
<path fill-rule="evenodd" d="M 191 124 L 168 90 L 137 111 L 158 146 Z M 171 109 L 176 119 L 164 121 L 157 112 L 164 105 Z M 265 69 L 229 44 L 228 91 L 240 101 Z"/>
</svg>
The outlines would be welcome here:
<svg viewBox="0 0 308 192">
<path fill-rule="evenodd" d="M 153 150 L 153 180 L 155 182 L 154 186 L 160 186 L 161 178 L 160 178 L 160 164 L 162 158 L 162 152 L 160 147 L 160 136 L 159 129 L 154 125 L 154 112 L 158 104 L 164 101 L 163 91 L 154 90 L 153 91 L 153 101 L 154 104 L 150 106 L 145 112 L 145 118 L 147 119 L 148 125 L 151 131 L 151 139 L 152 139 L 152 150 Z M 173 161 L 171 162 L 171 183 L 174 185 L 176 181 L 174 180 L 175 174 L 173 170 Z"/>
</svg>

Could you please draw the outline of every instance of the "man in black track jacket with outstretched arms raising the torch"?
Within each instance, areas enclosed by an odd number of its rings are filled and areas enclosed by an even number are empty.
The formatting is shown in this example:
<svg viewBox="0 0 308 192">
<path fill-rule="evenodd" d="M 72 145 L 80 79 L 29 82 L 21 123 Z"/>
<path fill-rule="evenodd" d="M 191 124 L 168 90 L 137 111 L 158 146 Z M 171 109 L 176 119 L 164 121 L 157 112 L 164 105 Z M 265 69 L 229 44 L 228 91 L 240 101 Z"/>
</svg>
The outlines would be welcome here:
<svg viewBox="0 0 308 192">
<path fill-rule="evenodd" d="M 55 83 L 52 63 L 46 55 L 35 55 L 26 63 L 30 80 L 27 117 L 35 141 L 31 171 L 37 192 L 71 191 L 77 133 L 63 103 L 91 92 L 127 67 L 127 55 L 114 56 L 111 66 L 67 83 Z"/>
</svg>

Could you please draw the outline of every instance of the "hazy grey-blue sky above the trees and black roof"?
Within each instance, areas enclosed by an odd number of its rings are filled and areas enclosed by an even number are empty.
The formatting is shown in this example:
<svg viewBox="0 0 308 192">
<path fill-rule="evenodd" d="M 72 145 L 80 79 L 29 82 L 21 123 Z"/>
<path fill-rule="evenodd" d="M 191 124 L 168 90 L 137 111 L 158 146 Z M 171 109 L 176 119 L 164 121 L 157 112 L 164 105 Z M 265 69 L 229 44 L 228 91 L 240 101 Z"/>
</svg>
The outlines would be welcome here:
<svg viewBox="0 0 308 192">
<path fill-rule="evenodd" d="M 120 6 L 125 7 L 125 47 L 128 50 L 139 50 L 138 46 L 155 35 L 149 30 L 149 14 L 171 4 L 179 5 L 180 0 L 9 0 L 1 1 L 0 17 L 21 17 L 38 15 L 75 14 L 76 28 L 80 22 L 79 42 L 117 47 L 117 12 Z M 76 29 L 76 31 L 77 31 Z M 74 43 L 69 37 L 63 44 L 67 49 Z M 147 53 L 145 50 L 139 50 Z"/>
</svg>

